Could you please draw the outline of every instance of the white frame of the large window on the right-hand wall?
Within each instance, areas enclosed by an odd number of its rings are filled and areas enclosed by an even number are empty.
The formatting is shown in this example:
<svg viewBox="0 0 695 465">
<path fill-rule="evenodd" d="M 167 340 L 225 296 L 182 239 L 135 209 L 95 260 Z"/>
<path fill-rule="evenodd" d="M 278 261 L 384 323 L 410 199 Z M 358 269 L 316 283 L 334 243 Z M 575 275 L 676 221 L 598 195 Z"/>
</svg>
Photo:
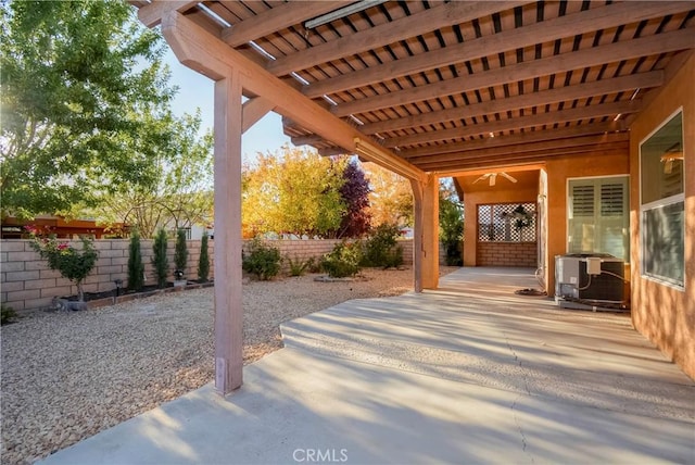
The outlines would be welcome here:
<svg viewBox="0 0 695 465">
<path fill-rule="evenodd" d="M 637 147 L 637 162 L 639 162 L 639 191 L 640 191 L 640 199 L 639 199 L 639 217 L 637 217 L 637 222 L 640 225 L 640 235 L 637 240 L 639 242 L 639 249 L 637 249 L 637 253 L 639 253 L 639 262 L 640 262 L 640 277 L 642 279 L 646 279 L 653 282 L 657 282 L 659 285 L 662 286 L 667 286 L 673 289 L 677 289 L 681 292 L 685 291 L 685 253 L 683 253 L 683 281 L 678 281 L 677 279 L 670 278 L 668 276 L 658 276 L 658 275 L 653 275 L 653 274 L 647 274 L 646 273 L 646 266 L 645 266 L 645 261 L 646 261 L 646 218 L 645 218 L 645 212 L 658 209 L 658 208 L 665 208 L 665 206 L 669 206 L 669 205 L 673 205 L 677 203 L 682 203 L 683 204 L 683 225 L 682 225 L 682 238 L 683 238 L 683 246 L 685 246 L 685 178 L 683 178 L 683 191 L 681 193 L 677 193 L 674 196 L 669 196 L 666 197 L 664 199 L 658 199 L 648 203 L 643 203 L 642 200 L 642 188 L 643 188 L 643 172 L 642 172 L 642 146 L 644 146 L 645 142 L 647 142 L 654 135 L 656 135 L 659 130 L 661 130 L 667 124 L 669 124 L 674 117 L 677 117 L 678 115 L 681 115 L 681 144 L 683 147 L 683 153 L 685 153 L 685 135 L 683 131 L 683 127 L 685 126 L 685 114 L 683 112 L 683 106 L 679 106 L 674 112 L 672 112 L 670 115 L 668 115 L 666 118 L 664 118 L 664 121 L 661 121 L 661 123 L 659 123 L 658 126 L 656 126 L 647 136 L 645 136 L 641 141 L 640 144 Z M 683 177 L 685 176 L 685 174 L 683 173 Z"/>
</svg>

